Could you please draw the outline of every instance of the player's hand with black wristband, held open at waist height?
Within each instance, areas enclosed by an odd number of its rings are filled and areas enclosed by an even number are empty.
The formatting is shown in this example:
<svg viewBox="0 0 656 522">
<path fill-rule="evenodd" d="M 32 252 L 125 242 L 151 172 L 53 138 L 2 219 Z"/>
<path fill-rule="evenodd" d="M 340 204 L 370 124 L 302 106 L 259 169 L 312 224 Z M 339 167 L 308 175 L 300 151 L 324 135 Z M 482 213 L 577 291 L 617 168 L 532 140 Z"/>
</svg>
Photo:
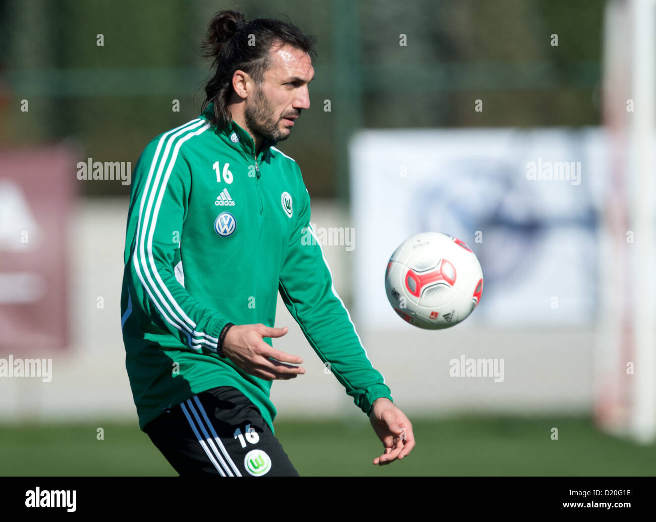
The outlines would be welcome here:
<svg viewBox="0 0 656 522">
<path fill-rule="evenodd" d="M 247 374 L 260 379 L 293 379 L 304 374 L 305 369 L 284 363 L 300 364 L 303 360 L 297 355 L 276 350 L 262 340 L 263 337 L 282 337 L 287 330 L 287 326 L 270 328 L 264 324 L 236 324 L 228 329 L 223 339 L 223 355 Z"/>
</svg>

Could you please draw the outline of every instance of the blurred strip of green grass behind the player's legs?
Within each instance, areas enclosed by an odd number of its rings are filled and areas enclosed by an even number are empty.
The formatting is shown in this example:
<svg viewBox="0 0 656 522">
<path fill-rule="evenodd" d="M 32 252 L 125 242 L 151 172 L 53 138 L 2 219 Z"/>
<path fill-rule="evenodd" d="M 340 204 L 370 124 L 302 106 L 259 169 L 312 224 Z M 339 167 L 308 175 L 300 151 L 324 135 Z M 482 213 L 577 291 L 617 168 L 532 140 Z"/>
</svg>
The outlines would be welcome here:
<svg viewBox="0 0 656 522">
<path fill-rule="evenodd" d="M 104 428 L 104 440 L 96 428 Z M 558 440 L 550 439 L 558 428 Z M 276 435 L 300 475 L 656 475 L 656 445 L 637 446 L 581 418 L 417 420 L 417 447 L 382 468 L 363 422 L 279 422 Z M 175 475 L 136 424 L 0 427 L 0 475 Z"/>
</svg>

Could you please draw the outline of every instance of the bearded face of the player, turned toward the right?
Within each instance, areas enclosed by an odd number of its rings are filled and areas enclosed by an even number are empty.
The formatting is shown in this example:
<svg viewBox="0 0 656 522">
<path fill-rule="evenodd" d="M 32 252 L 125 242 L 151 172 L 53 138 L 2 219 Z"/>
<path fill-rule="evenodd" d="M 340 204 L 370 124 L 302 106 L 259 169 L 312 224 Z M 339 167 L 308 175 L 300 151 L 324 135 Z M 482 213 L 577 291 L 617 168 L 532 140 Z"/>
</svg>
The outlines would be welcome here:
<svg viewBox="0 0 656 522">
<path fill-rule="evenodd" d="M 244 117 L 250 130 L 273 141 L 289 138 L 294 120 L 310 108 L 308 84 L 314 77 L 310 56 L 289 45 L 274 46 L 262 85 L 246 98 Z"/>
</svg>

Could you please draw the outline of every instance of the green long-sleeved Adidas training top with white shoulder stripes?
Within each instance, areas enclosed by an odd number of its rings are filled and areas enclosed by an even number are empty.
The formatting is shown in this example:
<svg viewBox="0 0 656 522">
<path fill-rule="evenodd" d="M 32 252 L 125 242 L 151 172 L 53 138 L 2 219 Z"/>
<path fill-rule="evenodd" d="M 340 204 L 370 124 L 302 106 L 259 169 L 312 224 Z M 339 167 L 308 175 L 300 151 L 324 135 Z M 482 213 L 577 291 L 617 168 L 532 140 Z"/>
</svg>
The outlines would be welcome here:
<svg viewBox="0 0 656 522">
<path fill-rule="evenodd" d="M 256 156 L 249 134 L 235 121 L 217 131 L 212 112 L 156 137 L 134 167 L 121 327 L 139 427 L 197 393 L 232 386 L 274 431 L 272 381 L 218 357 L 216 341 L 228 322 L 274 326 L 278 291 L 369 414 L 375 399 L 392 400 L 390 389 L 335 291 L 300 168 L 275 142 Z"/>
</svg>

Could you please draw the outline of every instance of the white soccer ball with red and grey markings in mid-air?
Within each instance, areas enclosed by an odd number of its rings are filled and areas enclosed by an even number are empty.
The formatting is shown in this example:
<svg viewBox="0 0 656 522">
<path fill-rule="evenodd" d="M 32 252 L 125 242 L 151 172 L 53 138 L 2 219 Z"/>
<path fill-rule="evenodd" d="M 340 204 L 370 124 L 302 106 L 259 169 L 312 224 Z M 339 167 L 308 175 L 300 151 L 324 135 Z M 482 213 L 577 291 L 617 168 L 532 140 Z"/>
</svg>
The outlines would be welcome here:
<svg viewBox="0 0 656 522">
<path fill-rule="evenodd" d="M 423 232 L 397 248 L 385 271 L 387 298 L 403 319 L 440 330 L 467 318 L 481 300 L 483 271 L 461 240 Z"/>
</svg>

